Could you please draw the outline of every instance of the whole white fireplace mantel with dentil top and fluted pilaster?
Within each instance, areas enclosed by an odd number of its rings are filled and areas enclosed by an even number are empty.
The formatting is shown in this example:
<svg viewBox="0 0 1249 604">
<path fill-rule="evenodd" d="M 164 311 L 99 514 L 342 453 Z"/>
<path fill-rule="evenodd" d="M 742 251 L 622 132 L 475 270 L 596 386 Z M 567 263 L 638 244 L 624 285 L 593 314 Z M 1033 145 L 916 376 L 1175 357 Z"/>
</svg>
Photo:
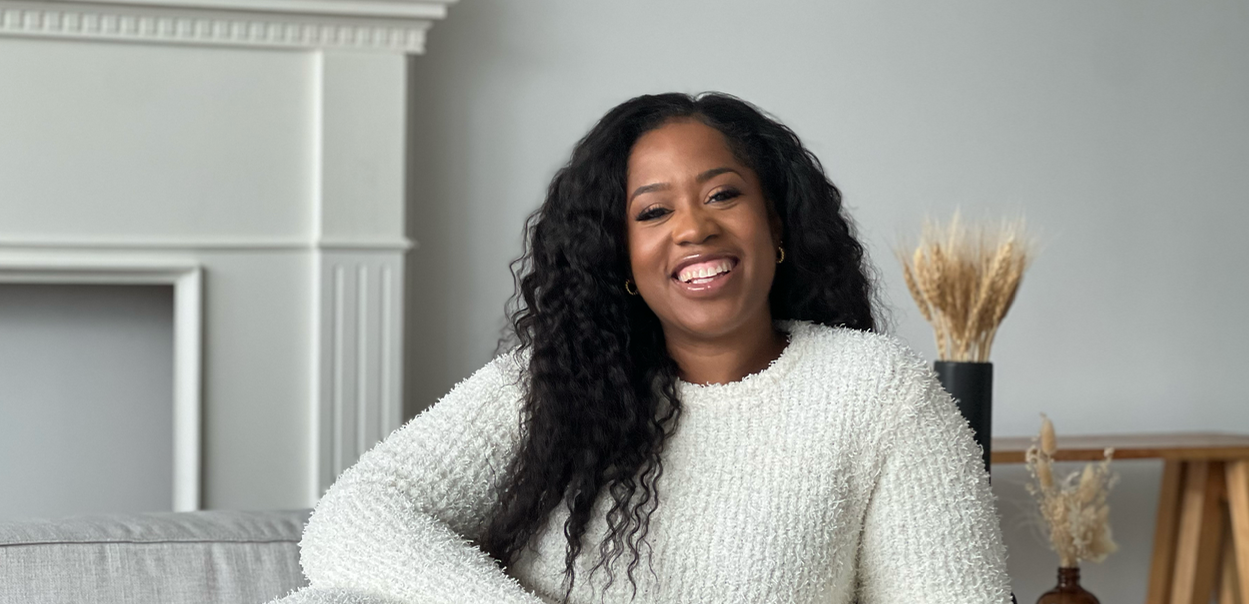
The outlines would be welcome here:
<svg viewBox="0 0 1249 604">
<path fill-rule="evenodd" d="M 452 1 L 0 0 L 0 277 L 196 267 L 179 509 L 311 505 L 402 421 L 408 55 Z"/>
</svg>

